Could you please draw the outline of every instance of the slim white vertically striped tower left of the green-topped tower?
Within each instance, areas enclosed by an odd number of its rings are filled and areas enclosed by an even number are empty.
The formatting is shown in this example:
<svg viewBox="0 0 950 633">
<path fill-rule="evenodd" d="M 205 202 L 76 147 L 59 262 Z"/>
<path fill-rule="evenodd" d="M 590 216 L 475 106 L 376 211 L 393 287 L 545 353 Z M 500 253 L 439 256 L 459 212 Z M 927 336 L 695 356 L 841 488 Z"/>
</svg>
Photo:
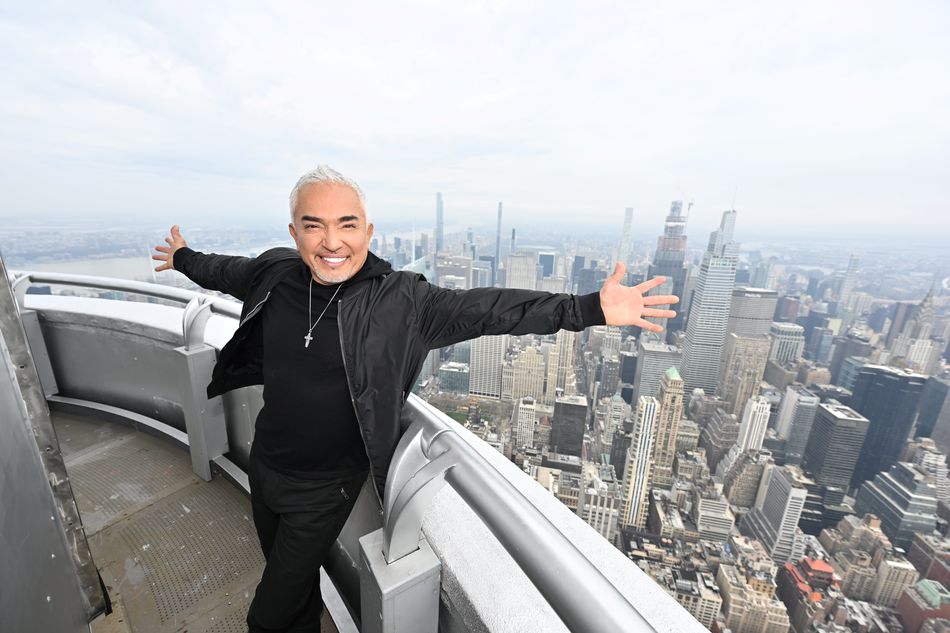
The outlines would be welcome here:
<svg viewBox="0 0 950 633">
<path fill-rule="evenodd" d="M 659 408 L 660 403 L 656 398 L 643 396 L 638 399 L 633 441 L 627 449 L 623 474 L 624 509 L 620 522 L 637 529 L 643 529 L 647 523 Z"/>
</svg>

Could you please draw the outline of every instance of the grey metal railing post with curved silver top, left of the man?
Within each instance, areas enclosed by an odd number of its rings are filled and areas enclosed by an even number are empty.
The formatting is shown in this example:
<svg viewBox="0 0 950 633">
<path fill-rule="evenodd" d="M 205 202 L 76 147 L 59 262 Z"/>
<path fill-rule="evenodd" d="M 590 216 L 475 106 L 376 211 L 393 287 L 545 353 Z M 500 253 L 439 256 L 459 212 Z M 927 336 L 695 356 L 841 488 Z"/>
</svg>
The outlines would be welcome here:
<svg viewBox="0 0 950 633">
<path fill-rule="evenodd" d="M 189 301 L 182 317 L 185 345 L 175 348 L 183 365 L 179 373 L 179 393 L 182 394 L 191 468 L 205 481 L 211 481 L 211 460 L 228 452 L 224 403 L 220 396 L 209 400 L 205 389 L 217 360 L 215 349 L 203 342 L 210 313 L 210 303 L 199 297 Z"/>
</svg>

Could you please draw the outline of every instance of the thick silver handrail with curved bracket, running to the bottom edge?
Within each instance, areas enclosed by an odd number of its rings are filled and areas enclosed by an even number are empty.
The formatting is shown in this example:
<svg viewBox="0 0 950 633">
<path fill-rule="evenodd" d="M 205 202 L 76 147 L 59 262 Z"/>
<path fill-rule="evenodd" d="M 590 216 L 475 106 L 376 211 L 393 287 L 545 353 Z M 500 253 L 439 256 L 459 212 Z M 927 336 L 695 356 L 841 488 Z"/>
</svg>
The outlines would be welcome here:
<svg viewBox="0 0 950 633">
<path fill-rule="evenodd" d="M 587 556 L 455 432 L 445 414 L 415 395 L 408 405 L 412 424 L 396 449 L 386 485 L 388 562 L 419 548 L 428 502 L 449 484 L 571 631 L 654 630 Z"/>
</svg>

